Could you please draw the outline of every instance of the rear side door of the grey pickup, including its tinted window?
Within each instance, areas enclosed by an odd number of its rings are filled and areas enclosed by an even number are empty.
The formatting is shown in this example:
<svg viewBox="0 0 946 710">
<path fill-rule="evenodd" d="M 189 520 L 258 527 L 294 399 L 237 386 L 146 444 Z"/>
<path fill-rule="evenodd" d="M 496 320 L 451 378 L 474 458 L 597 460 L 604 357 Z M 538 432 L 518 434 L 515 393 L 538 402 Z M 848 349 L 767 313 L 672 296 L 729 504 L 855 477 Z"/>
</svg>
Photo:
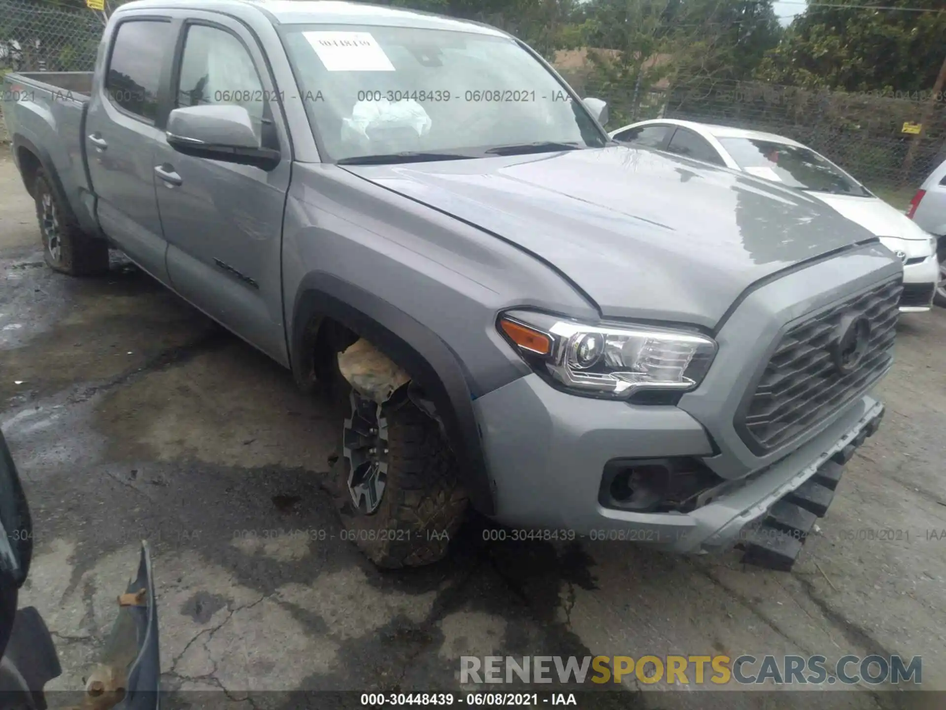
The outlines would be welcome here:
<svg viewBox="0 0 946 710">
<path fill-rule="evenodd" d="M 131 17 L 112 32 L 84 131 L 98 222 L 133 261 L 167 283 L 154 151 L 164 136 L 155 120 L 162 73 L 173 53 L 173 25 L 169 17 Z"/>
</svg>

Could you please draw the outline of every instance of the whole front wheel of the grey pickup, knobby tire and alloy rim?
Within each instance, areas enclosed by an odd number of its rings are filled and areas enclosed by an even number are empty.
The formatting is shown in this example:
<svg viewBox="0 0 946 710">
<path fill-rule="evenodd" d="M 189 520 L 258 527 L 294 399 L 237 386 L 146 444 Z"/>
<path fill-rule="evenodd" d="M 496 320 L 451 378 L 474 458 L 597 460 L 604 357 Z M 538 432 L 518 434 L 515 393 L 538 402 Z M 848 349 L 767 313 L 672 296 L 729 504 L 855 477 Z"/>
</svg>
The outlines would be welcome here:
<svg viewBox="0 0 946 710">
<path fill-rule="evenodd" d="M 407 397 L 383 405 L 351 390 L 330 490 L 343 538 L 378 567 L 443 559 L 466 492 L 437 422 Z"/>
</svg>

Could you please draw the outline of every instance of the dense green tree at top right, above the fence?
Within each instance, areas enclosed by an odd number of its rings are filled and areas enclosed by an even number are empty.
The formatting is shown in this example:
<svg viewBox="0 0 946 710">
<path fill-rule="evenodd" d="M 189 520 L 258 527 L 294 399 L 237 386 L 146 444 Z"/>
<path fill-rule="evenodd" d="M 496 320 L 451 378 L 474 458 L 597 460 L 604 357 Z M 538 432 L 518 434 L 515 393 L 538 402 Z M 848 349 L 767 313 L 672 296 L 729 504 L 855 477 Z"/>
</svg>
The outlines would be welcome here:
<svg viewBox="0 0 946 710">
<path fill-rule="evenodd" d="M 946 52 L 942 0 L 885 0 L 883 6 L 930 11 L 809 6 L 763 59 L 758 78 L 806 88 L 929 91 Z"/>
</svg>

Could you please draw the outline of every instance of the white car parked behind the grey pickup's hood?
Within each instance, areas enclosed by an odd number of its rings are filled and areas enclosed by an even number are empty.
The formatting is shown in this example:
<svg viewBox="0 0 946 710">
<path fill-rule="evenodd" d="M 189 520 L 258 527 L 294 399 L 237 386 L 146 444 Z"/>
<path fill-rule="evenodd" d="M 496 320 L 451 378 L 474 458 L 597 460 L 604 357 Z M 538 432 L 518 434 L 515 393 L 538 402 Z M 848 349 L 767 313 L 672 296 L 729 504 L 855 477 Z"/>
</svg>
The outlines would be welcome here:
<svg viewBox="0 0 946 710">
<path fill-rule="evenodd" d="M 774 133 L 658 118 L 611 131 L 622 143 L 686 155 L 796 187 L 880 238 L 903 262 L 901 311 L 929 311 L 940 280 L 937 238 L 823 155 Z"/>
</svg>

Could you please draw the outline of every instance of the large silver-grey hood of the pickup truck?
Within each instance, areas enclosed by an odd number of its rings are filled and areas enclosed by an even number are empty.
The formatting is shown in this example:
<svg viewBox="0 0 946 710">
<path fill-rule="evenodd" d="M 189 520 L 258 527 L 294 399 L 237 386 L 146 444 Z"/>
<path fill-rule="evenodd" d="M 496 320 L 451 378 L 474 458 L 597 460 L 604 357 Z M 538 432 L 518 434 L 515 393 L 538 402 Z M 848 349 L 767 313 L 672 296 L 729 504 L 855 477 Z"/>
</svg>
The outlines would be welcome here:
<svg viewBox="0 0 946 710">
<path fill-rule="evenodd" d="M 711 328 L 759 279 L 873 237 L 796 190 L 623 146 L 345 169 L 517 244 L 604 317 Z"/>
</svg>

